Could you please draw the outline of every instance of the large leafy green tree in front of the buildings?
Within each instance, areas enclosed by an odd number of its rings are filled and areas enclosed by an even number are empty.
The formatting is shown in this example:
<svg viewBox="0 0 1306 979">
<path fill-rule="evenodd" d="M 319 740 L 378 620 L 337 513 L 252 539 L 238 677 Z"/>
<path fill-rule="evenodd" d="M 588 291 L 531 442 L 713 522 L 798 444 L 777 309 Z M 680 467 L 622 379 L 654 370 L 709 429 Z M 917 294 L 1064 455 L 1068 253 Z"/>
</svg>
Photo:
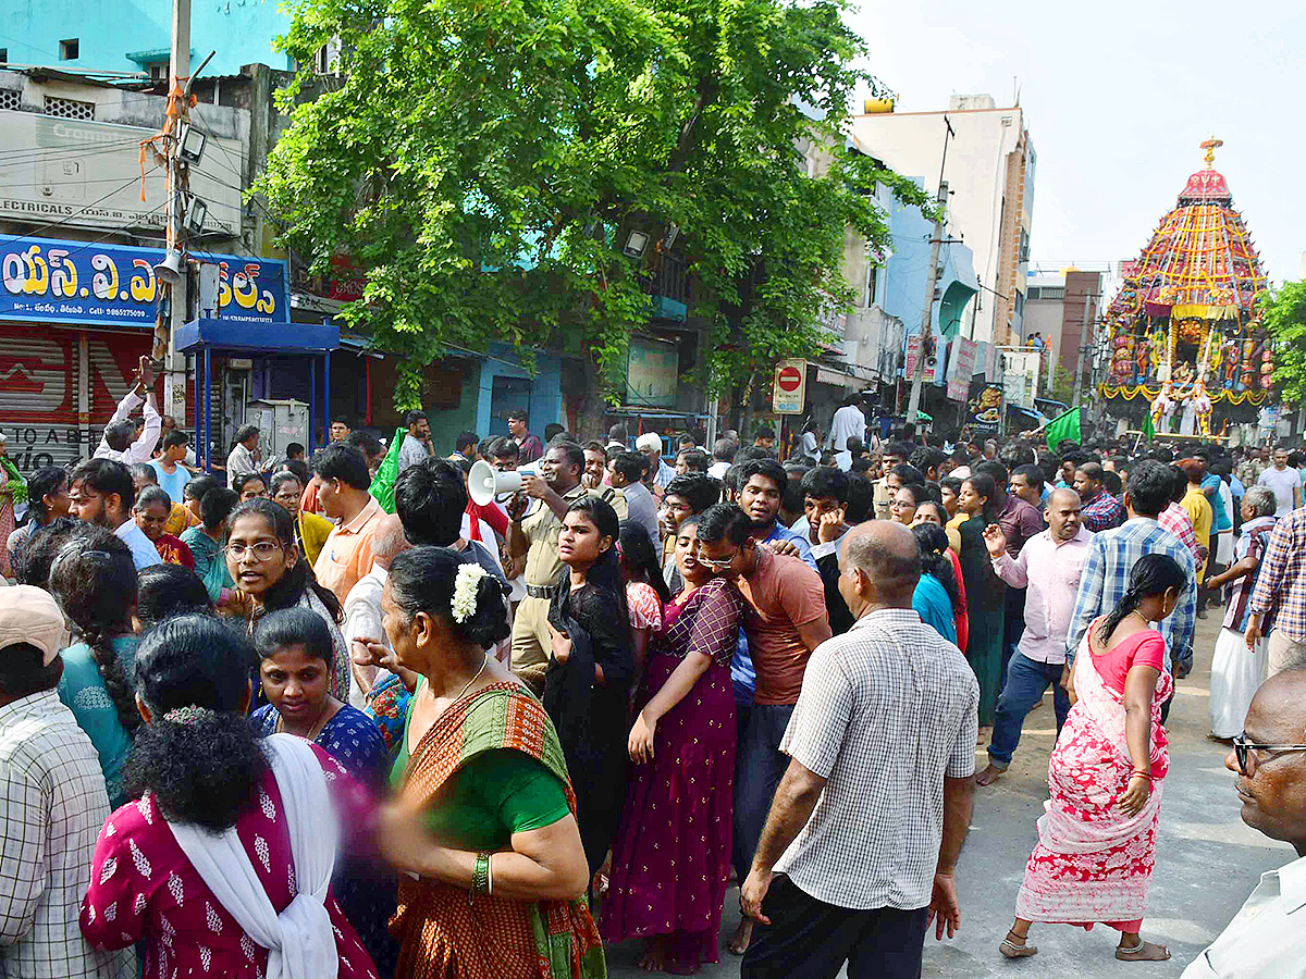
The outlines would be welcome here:
<svg viewBox="0 0 1306 979">
<path fill-rule="evenodd" d="M 888 238 L 867 188 L 925 202 L 842 151 L 874 85 L 844 8 L 304 0 L 281 43 L 300 65 L 338 44 L 340 84 L 304 101 L 304 68 L 279 93 L 290 125 L 257 189 L 315 272 L 334 253 L 366 270 L 342 317 L 407 358 L 398 407 L 419 403 L 421 365 L 490 339 L 585 351 L 614 398 L 673 225 L 710 332 L 697 380 L 722 392 L 819 350 L 821 307 L 850 299 L 845 228 Z M 810 172 L 804 141 L 840 149 Z"/>
</svg>

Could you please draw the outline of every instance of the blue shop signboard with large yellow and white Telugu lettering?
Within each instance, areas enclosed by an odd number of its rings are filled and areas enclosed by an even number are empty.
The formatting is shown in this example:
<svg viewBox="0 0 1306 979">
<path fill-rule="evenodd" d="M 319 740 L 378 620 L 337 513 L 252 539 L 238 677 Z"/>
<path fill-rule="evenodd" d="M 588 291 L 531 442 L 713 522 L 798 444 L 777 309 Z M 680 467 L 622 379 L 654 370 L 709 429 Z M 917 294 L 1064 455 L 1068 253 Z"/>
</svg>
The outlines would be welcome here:
<svg viewBox="0 0 1306 979">
<path fill-rule="evenodd" d="M 121 324 L 153 329 L 162 249 L 0 238 L 0 320 Z M 218 319 L 287 322 L 286 264 L 208 255 L 218 275 Z"/>
</svg>

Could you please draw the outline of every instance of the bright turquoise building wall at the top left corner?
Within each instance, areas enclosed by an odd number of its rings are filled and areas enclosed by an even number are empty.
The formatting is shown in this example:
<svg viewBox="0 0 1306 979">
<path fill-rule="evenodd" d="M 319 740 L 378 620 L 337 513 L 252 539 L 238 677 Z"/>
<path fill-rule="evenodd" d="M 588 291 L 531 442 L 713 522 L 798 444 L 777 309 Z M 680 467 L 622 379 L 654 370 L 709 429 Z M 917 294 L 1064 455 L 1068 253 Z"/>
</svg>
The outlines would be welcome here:
<svg viewBox="0 0 1306 979">
<path fill-rule="evenodd" d="M 240 65 L 290 68 L 273 38 L 290 18 L 281 0 L 199 0 L 191 9 L 192 67 L 217 50 L 205 74 L 236 74 Z M 0 47 L 9 61 L 77 72 L 138 72 L 146 61 L 166 61 L 171 46 L 171 0 L 5 0 L 0 4 Z M 60 59 L 59 42 L 77 38 L 78 57 Z M 132 60 L 129 55 L 136 55 Z"/>
</svg>

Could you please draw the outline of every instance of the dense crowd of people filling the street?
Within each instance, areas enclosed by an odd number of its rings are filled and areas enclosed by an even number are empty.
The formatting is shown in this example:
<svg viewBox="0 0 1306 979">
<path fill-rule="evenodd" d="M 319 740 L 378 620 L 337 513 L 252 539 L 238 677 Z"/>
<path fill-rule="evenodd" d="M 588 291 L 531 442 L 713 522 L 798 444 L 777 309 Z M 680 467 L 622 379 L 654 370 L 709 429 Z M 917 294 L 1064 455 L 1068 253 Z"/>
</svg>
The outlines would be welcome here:
<svg viewBox="0 0 1306 979">
<path fill-rule="evenodd" d="M 1281 449 L 879 437 L 850 402 L 784 461 L 767 427 L 709 450 L 520 412 L 444 454 L 414 411 L 388 474 L 345 419 L 311 458 L 242 429 L 204 473 L 140 380 L 93 458 L 0 480 L 26 504 L 3 975 L 579 979 L 636 939 L 688 974 L 734 881 L 743 975 L 917 976 L 960 923 L 977 786 L 1049 688 L 1050 799 L 998 952 L 1100 923 L 1164 959 L 1165 721 L 1218 602 L 1212 736 L 1245 818 L 1306 850 L 1276 782 L 1306 751 Z M 520 489 L 474 501 L 477 461 Z M 1200 975 L 1239 954 L 1222 937 Z"/>
</svg>

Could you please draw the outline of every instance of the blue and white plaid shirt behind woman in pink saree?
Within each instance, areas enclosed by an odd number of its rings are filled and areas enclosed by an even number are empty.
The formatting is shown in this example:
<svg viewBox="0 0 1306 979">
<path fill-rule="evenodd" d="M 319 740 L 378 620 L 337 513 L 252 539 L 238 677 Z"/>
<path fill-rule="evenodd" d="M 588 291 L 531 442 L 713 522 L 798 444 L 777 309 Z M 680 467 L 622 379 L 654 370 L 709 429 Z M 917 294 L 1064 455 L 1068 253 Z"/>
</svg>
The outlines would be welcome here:
<svg viewBox="0 0 1306 979">
<path fill-rule="evenodd" d="M 1130 573 L 1145 553 L 1165 553 L 1179 563 L 1188 580 L 1174 614 L 1157 624 L 1165 637 L 1165 667 L 1174 662 L 1192 662 L 1192 625 L 1198 615 L 1196 565 L 1192 552 L 1151 517 L 1134 517 L 1114 530 L 1105 530 L 1093 538 L 1079 580 L 1075 615 L 1066 640 L 1066 662 L 1074 662 L 1079 644 L 1088 627 L 1100 615 L 1106 615 L 1130 587 Z"/>
</svg>

